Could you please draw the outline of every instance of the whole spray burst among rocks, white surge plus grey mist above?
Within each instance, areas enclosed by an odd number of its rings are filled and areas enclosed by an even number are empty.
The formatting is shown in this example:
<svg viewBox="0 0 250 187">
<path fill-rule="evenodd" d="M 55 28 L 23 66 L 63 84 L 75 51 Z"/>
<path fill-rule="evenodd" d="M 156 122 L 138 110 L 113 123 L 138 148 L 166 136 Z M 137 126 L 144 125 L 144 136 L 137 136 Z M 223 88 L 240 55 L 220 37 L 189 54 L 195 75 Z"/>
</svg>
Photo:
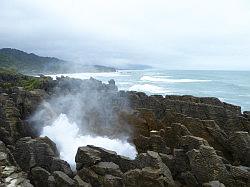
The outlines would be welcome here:
<svg viewBox="0 0 250 187">
<path fill-rule="evenodd" d="M 78 147 L 86 145 L 136 157 L 135 146 L 128 142 L 132 130 L 119 126 L 117 111 L 127 110 L 127 101 L 118 96 L 113 83 L 105 85 L 93 79 L 66 79 L 65 83 L 63 79 L 58 85 L 57 94 L 40 105 L 31 121 L 40 136 L 56 143 L 63 160 L 74 167 Z"/>
</svg>

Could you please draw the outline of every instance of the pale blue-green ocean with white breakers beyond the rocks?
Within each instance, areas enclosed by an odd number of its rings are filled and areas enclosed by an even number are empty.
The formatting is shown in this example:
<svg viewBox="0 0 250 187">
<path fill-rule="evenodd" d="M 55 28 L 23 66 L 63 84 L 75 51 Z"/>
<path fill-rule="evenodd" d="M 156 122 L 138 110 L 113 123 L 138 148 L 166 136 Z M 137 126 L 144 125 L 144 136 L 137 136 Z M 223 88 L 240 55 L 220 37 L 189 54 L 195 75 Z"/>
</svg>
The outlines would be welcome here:
<svg viewBox="0 0 250 187">
<path fill-rule="evenodd" d="M 193 95 L 217 97 L 221 101 L 239 105 L 242 111 L 250 111 L 249 71 L 201 71 L 201 70 L 119 70 L 110 73 L 75 73 L 61 75 L 107 83 L 114 79 L 119 90 L 142 91 L 149 95 Z"/>
</svg>

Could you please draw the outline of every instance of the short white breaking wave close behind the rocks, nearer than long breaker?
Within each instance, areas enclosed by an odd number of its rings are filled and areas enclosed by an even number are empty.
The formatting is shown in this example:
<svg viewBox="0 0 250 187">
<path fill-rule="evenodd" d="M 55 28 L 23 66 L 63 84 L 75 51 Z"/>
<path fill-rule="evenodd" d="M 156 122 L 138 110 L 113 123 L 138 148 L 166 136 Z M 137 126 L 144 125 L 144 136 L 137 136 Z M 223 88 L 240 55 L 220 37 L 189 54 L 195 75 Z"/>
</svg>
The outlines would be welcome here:
<svg viewBox="0 0 250 187">
<path fill-rule="evenodd" d="M 129 88 L 129 91 L 150 92 L 150 93 L 155 93 L 155 94 L 170 93 L 165 88 L 151 85 L 151 84 L 135 84 Z"/>
</svg>

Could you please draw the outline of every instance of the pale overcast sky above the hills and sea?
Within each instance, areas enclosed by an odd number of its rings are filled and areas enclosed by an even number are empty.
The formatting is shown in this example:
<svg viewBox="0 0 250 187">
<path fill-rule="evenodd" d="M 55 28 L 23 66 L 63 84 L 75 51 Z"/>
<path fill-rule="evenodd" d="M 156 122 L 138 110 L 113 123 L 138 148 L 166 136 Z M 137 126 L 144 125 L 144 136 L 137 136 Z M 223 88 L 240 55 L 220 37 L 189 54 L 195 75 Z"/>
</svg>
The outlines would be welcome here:
<svg viewBox="0 0 250 187">
<path fill-rule="evenodd" d="M 249 0 L 0 0 L 0 48 L 98 64 L 250 70 Z"/>
</svg>

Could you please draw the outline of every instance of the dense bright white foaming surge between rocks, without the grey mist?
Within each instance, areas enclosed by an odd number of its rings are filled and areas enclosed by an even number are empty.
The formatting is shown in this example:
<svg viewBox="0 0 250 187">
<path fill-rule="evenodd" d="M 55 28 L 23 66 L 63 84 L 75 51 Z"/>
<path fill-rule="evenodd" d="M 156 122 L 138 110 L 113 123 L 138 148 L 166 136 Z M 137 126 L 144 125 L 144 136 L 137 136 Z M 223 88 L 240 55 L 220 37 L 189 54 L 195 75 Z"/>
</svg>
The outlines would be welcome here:
<svg viewBox="0 0 250 187">
<path fill-rule="evenodd" d="M 60 151 L 60 157 L 72 167 L 75 166 L 75 155 L 80 146 L 103 147 L 131 159 L 134 159 L 137 154 L 135 147 L 127 141 L 79 134 L 77 124 L 70 122 L 65 114 L 60 114 L 52 125 L 44 127 L 41 136 L 48 136 L 54 141 Z"/>
</svg>

